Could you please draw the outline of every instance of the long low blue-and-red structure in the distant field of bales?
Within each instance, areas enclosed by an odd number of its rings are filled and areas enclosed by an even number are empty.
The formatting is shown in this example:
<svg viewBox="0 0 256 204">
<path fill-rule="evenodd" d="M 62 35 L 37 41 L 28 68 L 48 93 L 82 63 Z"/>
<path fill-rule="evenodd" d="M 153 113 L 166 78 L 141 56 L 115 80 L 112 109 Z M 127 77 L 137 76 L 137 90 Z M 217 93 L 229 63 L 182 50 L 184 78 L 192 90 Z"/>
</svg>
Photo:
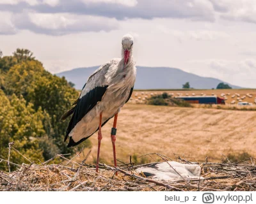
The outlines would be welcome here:
<svg viewBox="0 0 256 204">
<path fill-rule="evenodd" d="M 177 96 L 175 98 L 183 99 L 189 103 L 225 104 L 225 100 L 218 96 Z"/>
</svg>

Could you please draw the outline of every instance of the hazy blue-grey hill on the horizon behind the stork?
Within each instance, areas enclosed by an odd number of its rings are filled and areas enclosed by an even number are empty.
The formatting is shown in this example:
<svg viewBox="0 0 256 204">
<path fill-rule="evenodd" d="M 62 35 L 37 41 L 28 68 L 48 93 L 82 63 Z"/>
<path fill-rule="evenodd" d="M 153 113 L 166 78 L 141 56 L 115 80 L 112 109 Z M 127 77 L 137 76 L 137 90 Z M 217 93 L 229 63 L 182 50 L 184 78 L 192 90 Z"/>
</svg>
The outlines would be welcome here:
<svg viewBox="0 0 256 204">
<path fill-rule="evenodd" d="M 217 85 L 223 82 L 218 78 L 200 77 L 177 68 L 136 67 L 137 76 L 134 89 L 181 89 L 182 84 L 186 82 L 189 82 L 190 86 L 195 89 L 216 89 Z M 82 89 L 88 77 L 90 77 L 97 68 L 99 68 L 99 66 L 76 68 L 57 73 L 56 75 L 59 77 L 64 76 L 69 82 L 76 85 L 76 89 Z M 228 85 L 233 89 L 241 89 L 241 87 L 236 85 Z"/>
</svg>

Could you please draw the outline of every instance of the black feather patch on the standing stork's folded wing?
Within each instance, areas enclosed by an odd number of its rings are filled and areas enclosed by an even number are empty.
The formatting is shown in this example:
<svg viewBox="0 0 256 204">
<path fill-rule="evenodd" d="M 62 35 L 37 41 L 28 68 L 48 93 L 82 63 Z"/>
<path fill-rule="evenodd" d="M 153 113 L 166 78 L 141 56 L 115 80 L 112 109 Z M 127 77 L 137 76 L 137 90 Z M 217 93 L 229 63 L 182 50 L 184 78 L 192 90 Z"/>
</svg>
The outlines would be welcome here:
<svg viewBox="0 0 256 204">
<path fill-rule="evenodd" d="M 108 85 L 104 87 L 95 87 L 88 93 L 86 93 L 82 98 L 77 101 L 76 107 L 74 108 L 74 113 L 72 118 L 68 124 L 68 128 L 66 131 L 65 140 L 67 140 L 69 133 L 76 126 L 76 124 L 83 119 L 84 115 L 86 115 L 92 108 L 97 105 L 99 101 L 101 101 L 104 96 Z"/>
</svg>

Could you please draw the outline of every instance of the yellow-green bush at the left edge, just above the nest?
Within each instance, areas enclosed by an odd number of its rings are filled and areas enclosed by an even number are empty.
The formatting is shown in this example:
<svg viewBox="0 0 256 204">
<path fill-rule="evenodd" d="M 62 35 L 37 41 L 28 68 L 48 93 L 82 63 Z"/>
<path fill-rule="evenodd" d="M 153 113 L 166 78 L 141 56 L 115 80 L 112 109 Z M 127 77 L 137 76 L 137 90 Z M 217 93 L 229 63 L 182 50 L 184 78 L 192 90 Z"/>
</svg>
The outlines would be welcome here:
<svg viewBox="0 0 256 204">
<path fill-rule="evenodd" d="M 14 142 L 15 149 L 30 161 L 44 161 L 43 150 L 39 147 L 39 139 L 45 135 L 42 109 L 35 112 L 33 105 L 27 105 L 22 96 L 17 98 L 13 94 L 8 99 L 1 90 L 0 107 L 0 157 L 8 158 L 8 143 Z M 20 154 L 12 150 L 10 161 L 28 163 Z M 0 168 L 6 169 L 6 165 L 0 163 Z"/>
</svg>

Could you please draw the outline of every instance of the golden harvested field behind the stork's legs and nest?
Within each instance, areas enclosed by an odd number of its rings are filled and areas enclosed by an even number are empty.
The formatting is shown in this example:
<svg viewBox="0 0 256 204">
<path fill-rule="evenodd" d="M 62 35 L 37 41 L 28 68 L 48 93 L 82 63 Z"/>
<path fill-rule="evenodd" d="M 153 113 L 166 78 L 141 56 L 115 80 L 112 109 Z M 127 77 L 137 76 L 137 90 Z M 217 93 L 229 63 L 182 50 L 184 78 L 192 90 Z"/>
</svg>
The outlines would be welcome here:
<svg viewBox="0 0 256 204">
<path fill-rule="evenodd" d="M 138 158 L 154 152 L 172 158 L 175 153 L 190 161 L 204 161 L 206 156 L 208 161 L 220 161 L 221 153 L 255 156 L 255 121 L 255 111 L 126 104 L 118 115 L 116 156 L 126 163 L 129 156 L 138 163 L 154 161 L 149 156 Z M 107 164 L 113 163 L 112 124 L 113 119 L 102 128 L 100 161 Z M 88 163 L 95 163 L 97 133 L 90 141 Z M 88 150 L 84 149 L 84 153 Z"/>
</svg>

